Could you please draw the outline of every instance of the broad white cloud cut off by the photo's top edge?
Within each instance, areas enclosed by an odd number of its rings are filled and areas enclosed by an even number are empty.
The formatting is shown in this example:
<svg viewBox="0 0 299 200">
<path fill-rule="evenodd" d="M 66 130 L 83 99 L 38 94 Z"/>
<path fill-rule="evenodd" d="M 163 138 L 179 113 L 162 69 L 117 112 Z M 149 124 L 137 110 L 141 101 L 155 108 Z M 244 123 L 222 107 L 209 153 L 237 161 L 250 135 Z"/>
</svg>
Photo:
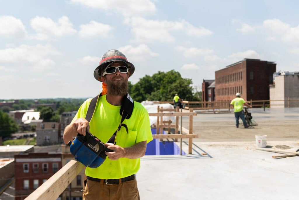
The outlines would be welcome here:
<svg viewBox="0 0 299 200">
<path fill-rule="evenodd" d="M 146 16 L 156 12 L 155 4 L 150 0 L 71 0 L 72 3 L 83 4 L 94 9 L 112 11 L 123 16 Z"/>
</svg>

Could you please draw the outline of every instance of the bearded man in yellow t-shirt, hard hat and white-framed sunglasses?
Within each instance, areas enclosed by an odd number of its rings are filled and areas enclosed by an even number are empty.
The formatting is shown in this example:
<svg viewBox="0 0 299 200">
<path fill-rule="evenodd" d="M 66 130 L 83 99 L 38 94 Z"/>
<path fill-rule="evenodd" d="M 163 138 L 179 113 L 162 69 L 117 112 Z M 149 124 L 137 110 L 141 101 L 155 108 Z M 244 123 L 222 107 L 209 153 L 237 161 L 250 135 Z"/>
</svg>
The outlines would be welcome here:
<svg viewBox="0 0 299 200">
<path fill-rule="evenodd" d="M 94 114 L 85 119 L 91 99 L 86 100 L 76 116 L 65 128 L 63 140 L 67 144 L 77 133 L 89 131 L 103 142 L 109 140 L 115 130 L 114 143 L 105 143 L 113 152 L 106 152 L 108 159 L 97 168 L 86 167 L 83 199 L 140 199 L 135 174 L 140 168 L 140 157 L 146 151 L 152 133 L 147 110 L 134 101 L 131 117 L 121 121 L 120 108 L 128 94 L 128 79 L 135 71 L 126 56 L 115 49 L 104 53 L 94 78 L 103 82 L 103 91 L 97 99 Z M 107 92 L 107 93 L 106 93 Z M 120 123 L 121 121 L 121 123 Z M 125 124 L 125 126 L 120 126 Z"/>
</svg>

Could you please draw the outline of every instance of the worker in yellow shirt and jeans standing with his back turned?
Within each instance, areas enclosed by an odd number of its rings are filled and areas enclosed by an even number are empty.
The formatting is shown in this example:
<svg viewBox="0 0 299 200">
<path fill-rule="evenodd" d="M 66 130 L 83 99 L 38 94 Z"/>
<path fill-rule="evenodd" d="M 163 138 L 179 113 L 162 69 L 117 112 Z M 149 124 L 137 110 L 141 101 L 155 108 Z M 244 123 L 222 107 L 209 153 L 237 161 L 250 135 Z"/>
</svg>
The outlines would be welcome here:
<svg viewBox="0 0 299 200">
<path fill-rule="evenodd" d="M 236 94 L 236 98 L 231 101 L 231 105 L 234 106 L 234 113 L 236 118 L 236 127 L 239 128 L 239 118 L 242 119 L 244 128 L 248 128 L 249 126 L 246 123 L 244 111 L 243 111 L 243 104 L 252 108 L 244 99 L 241 98 L 241 94 L 238 92 Z"/>
</svg>

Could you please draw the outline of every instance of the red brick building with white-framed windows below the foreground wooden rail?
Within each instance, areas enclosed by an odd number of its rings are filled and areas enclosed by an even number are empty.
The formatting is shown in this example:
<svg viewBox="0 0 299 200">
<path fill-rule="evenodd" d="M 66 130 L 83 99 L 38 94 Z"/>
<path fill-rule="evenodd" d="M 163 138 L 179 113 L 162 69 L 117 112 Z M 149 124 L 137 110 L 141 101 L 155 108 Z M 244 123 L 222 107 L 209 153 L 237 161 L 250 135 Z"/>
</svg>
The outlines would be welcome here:
<svg viewBox="0 0 299 200">
<path fill-rule="evenodd" d="M 15 158 L 15 200 L 25 199 L 61 169 L 61 153 L 17 154 Z"/>
</svg>

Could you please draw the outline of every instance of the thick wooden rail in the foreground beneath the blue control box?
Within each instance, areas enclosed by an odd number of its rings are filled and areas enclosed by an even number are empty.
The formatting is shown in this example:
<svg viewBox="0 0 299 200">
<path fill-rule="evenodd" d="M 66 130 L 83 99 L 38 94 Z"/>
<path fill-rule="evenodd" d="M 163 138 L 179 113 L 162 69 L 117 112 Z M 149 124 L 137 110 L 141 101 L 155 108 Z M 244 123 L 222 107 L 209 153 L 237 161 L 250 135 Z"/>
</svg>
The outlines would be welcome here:
<svg viewBox="0 0 299 200">
<path fill-rule="evenodd" d="M 57 199 L 84 167 L 77 160 L 69 161 L 25 200 Z"/>
</svg>

